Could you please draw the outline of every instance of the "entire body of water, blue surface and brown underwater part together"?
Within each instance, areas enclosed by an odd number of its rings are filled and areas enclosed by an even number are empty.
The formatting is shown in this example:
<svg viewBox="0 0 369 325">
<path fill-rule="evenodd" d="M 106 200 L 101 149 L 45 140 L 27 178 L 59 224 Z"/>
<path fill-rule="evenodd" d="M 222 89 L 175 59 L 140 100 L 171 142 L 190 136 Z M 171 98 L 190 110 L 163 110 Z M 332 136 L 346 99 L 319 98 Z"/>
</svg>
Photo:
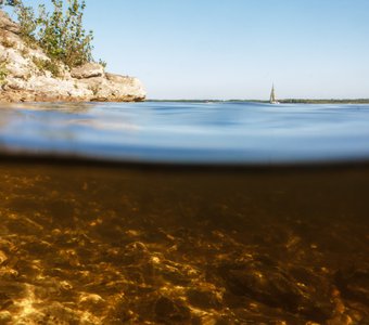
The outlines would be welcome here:
<svg viewBox="0 0 369 325">
<path fill-rule="evenodd" d="M 0 110 L 0 324 L 368 324 L 369 106 Z"/>
</svg>

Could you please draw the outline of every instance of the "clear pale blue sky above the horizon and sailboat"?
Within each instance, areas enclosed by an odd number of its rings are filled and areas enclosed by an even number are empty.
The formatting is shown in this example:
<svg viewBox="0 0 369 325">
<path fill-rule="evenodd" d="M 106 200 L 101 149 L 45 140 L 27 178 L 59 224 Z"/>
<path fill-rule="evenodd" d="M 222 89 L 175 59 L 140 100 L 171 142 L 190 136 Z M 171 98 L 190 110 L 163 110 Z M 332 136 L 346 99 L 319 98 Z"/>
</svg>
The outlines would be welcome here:
<svg viewBox="0 0 369 325">
<path fill-rule="evenodd" d="M 96 58 L 150 99 L 369 98 L 369 0 L 86 2 Z"/>
</svg>

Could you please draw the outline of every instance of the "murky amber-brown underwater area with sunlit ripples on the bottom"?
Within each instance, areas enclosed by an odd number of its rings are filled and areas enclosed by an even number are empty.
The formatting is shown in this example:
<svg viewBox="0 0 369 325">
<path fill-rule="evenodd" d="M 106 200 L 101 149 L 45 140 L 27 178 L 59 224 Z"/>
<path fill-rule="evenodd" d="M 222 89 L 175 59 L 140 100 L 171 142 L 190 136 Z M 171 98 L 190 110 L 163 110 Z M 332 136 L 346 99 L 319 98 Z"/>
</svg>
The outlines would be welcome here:
<svg viewBox="0 0 369 325">
<path fill-rule="evenodd" d="M 0 167 L 0 324 L 369 324 L 369 169 Z"/>
</svg>

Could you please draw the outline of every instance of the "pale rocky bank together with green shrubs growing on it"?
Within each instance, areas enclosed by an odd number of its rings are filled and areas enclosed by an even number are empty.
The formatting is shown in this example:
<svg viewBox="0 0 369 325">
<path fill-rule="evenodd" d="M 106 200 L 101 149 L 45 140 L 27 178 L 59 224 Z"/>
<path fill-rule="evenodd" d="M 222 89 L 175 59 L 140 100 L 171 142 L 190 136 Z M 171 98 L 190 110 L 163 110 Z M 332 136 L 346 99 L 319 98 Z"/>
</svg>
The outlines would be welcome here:
<svg viewBox="0 0 369 325">
<path fill-rule="evenodd" d="M 109 74 L 104 62 L 93 61 L 92 34 L 81 27 L 84 2 L 72 2 L 65 16 L 58 15 L 65 10 L 58 8 L 61 2 L 54 2 L 52 13 L 41 5 L 39 16 L 22 1 L 3 2 L 0 1 L 0 102 L 145 100 L 139 79 Z M 3 4 L 14 9 L 17 23 L 1 9 Z"/>
</svg>

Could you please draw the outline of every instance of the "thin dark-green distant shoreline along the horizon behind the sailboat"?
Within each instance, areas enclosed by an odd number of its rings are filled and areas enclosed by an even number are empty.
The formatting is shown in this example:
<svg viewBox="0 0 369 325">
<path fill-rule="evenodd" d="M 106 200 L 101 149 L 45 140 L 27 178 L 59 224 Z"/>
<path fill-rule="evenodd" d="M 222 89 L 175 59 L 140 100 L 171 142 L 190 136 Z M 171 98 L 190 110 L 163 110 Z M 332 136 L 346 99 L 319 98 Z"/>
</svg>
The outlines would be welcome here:
<svg viewBox="0 0 369 325">
<path fill-rule="evenodd" d="M 304 100 L 304 99 L 285 99 L 278 100 L 281 104 L 369 104 L 369 99 L 356 99 L 356 100 Z M 238 102 L 251 102 L 251 103 L 269 103 L 269 101 L 260 100 L 147 100 L 147 102 L 171 102 L 171 103 L 238 103 Z"/>
</svg>

